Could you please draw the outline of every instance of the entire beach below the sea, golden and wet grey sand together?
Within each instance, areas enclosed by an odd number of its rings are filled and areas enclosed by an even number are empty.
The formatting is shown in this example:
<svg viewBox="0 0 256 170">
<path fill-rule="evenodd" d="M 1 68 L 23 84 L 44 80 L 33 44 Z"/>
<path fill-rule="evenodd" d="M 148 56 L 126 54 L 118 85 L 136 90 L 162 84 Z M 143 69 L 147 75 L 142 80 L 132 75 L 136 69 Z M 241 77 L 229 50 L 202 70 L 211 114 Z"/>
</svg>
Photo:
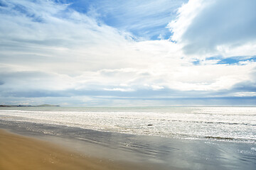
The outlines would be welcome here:
<svg viewBox="0 0 256 170">
<path fill-rule="evenodd" d="M 255 143 L 181 140 L 1 119 L 0 129 L 11 132 L 0 134 L 0 169 L 255 170 L 256 167 Z"/>
</svg>

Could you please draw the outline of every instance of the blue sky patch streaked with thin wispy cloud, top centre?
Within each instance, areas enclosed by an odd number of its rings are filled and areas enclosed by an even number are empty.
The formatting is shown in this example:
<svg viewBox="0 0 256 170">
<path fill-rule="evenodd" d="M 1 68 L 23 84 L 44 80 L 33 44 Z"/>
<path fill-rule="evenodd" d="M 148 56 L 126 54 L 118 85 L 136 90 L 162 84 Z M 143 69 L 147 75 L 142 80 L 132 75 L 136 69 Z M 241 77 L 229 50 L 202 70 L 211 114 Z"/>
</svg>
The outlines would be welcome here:
<svg viewBox="0 0 256 170">
<path fill-rule="evenodd" d="M 187 0 L 142 1 L 68 1 L 71 7 L 94 16 L 102 23 L 129 31 L 137 38 L 169 38 L 166 25 L 176 16 L 176 9 Z M 81 8 L 81 6 L 86 6 Z"/>
</svg>

